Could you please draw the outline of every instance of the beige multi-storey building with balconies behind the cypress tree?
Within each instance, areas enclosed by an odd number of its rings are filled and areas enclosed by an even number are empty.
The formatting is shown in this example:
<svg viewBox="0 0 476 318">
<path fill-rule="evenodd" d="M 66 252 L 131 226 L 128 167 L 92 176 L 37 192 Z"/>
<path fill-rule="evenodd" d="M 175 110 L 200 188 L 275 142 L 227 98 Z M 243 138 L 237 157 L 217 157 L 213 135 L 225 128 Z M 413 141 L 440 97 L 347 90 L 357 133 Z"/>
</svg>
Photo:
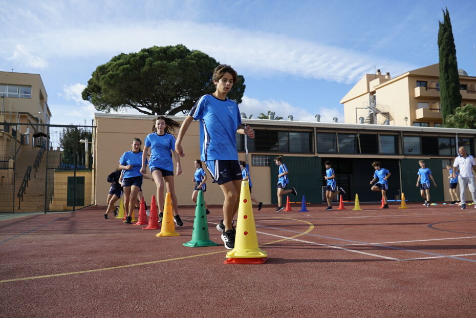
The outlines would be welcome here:
<svg viewBox="0 0 476 318">
<path fill-rule="evenodd" d="M 459 70 L 462 105 L 476 103 L 476 77 Z M 440 109 L 439 64 L 391 78 L 365 74 L 340 100 L 346 123 L 438 127 Z"/>
</svg>

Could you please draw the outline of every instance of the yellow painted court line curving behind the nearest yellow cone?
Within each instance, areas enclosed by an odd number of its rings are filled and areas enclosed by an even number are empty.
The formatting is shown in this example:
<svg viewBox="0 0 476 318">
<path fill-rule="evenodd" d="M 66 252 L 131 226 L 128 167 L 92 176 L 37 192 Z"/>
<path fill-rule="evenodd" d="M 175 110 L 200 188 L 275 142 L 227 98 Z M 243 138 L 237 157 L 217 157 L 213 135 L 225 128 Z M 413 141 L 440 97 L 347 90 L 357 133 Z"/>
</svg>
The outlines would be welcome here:
<svg viewBox="0 0 476 318">
<path fill-rule="evenodd" d="M 286 241 L 289 239 L 294 239 L 299 236 L 308 234 L 310 231 L 314 229 L 314 224 L 308 222 L 308 221 L 303 221 L 303 220 L 298 220 L 298 219 L 291 219 L 291 218 L 282 218 L 282 217 L 275 217 L 278 219 L 286 219 L 286 220 L 294 220 L 294 221 L 299 221 L 299 222 L 304 222 L 309 224 L 309 228 L 295 236 L 286 238 L 286 239 L 280 239 L 268 243 L 263 243 L 260 245 L 269 245 L 269 244 L 274 244 L 277 242 L 281 241 Z M 197 255 L 190 255 L 190 256 L 184 256 L 184 257 L 177 257 L 174 259 L 166 259 L 166 260 L 159 260 L 159 261 L 150 261 L 150 262 L 144 262 L 144 263 L 136 263 L 136 264 L 129 264 L 129 265 L 121 265 L 121 266 L 114 266 L 114 267 L 105 267 L 105 268 L 98 268 L 98 269 L 89 269 L 89 270 L 82 270 L 82 271 L 73 271 L 73 272 L 68 272 L 68 273 L 59 273 L 59 274 L 50 274 L 50 275 L 41 275 L 41 276 L 33 276 L 33 277 L 24 277 L 24 278 L 15 278 L 11 280 L 3 280 L 0 281 L 0 283 L 7 283 L 7 282 L 17 282 L 17 281 L 27 281 L 27 280 L 34 280 L 34 279 L 39 279 L 39 278 L 50 278 L 50 277 L 59 277 L 59 276 L 66 276 L 66 275 L 74 275 L 74 274 L 85 274 L 85 273 L 92 273 L 92 272 L 97 272 L 97 271 L 103 271 L 103 270 L 111 270 L 111 269 L 119 269 L 119 268 L 127 268 L 127 267 L 133 267 L 133 266 L 141 266 L 141 265 L 149 265 L 149 264 L 156 264 L 156 263 L 164 263 L 164 262 L 170 262 L 170 261 L 179 261 L 179 260 L 186 260 L 190 258 L 195 258 L 195 257 L 201 257 L 201 256 L 208 256 L 208 255 L 213 255 L 213 254 L 218 254 L 218 253 L 224 253 L 228 252 L 228 250 L 220 250 L 220 251 L 215 251 L 215 252 L 209 252 L 209 253 L 203 253 L 203 254 L 197 254 Z"/>
</svg>

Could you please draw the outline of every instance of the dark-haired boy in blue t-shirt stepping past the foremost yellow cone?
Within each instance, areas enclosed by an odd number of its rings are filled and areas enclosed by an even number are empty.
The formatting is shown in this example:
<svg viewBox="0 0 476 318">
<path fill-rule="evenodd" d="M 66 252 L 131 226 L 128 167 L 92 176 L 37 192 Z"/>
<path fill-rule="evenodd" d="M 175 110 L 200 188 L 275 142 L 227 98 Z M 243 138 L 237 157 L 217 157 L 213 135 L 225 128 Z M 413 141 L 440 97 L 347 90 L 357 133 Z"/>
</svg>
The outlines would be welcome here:
<svg viewBox="0 0 476 318">
<path fill-rule="evenodd" d="M 212 75 L 216 90 L 211 95 L 202 96 L 192 107 L 182 122 L 175 143 L 176 151 L 185 156 L 182 140 L 193 120 L 200 120 L 200 159 L 211 177 L 220 185 L 225 201 L 223 202 L 223 221 L 217 225 L 222 232 L 225 247 L 233 249 L 235 229 L 232 219 L 238 211 L 242 174 L 236 151 L 236 133 L 254 138 L 250 126 L 241 122 L 238 105 L 226 98 L 226 95 L 238 79 L 238 75 L 229 65 L 219 65 Z"/>
</svg>

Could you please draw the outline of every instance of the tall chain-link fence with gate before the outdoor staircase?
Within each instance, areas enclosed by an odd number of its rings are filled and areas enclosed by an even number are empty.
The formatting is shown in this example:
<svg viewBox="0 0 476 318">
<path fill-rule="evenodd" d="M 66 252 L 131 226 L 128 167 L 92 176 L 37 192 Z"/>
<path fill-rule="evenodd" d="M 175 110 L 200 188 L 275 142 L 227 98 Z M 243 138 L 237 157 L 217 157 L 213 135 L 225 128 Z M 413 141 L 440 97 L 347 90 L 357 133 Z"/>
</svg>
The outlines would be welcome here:
<svg viewBox="0 0 476 318">
<path fill-rule="evenodd" d="M 0 212 L 95 203 L 94 126 L 4 122 L 0 130 Z"/>
</svg>

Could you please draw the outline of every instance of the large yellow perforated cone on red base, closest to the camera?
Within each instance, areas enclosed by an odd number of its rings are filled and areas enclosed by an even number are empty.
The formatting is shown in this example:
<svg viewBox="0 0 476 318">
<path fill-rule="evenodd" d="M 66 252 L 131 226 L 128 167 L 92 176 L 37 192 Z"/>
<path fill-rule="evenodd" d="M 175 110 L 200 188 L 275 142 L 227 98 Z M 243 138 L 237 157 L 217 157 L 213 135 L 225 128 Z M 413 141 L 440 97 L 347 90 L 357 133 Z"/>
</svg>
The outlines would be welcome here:
<svg viewBox="0 0 476 318">
<path fill-rule="evenodd" d="M 248 181 L 241 184 L 235 247 L 226 254 L 226 257 L 229 259 L 225 264 L 264 264 L 268 258 L 268 253 L 258 247 Z"/>
</svg>

